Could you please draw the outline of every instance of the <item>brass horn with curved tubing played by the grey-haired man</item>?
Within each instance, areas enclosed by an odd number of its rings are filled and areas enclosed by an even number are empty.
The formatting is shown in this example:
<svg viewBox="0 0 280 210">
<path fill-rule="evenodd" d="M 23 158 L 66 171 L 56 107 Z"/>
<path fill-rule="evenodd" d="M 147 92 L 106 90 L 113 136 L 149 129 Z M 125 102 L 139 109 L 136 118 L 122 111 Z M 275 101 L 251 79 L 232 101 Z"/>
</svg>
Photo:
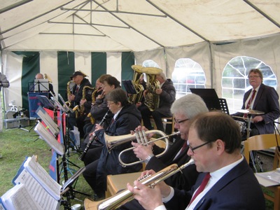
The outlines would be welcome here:
<svg viewBox="0 0 280 210">
<path fill-rule="evenodd" d="M 148 141 L 148 139 L 146 138 L 146 136 L 148 134 L 158 134 L 162 137 L 158 138 L 158 139 L 153 139 L 153 140 L 150 140 Z M 145 131 L 141 131 L 141 132 L 135 132 L 135 134 L 127 134 L 127 135 L 121 135 L 121 136 L 109 136 L 107 134 L 104 134 L 104 139 L 105 139 L 105 143 L 106 143 L 106 147 L 110 153 L 110 151 L 120 145 L 120 144 L 124 144 L 128 141 L 133 141 L 134 139 L 137 139 L 137 143 L 138 144 L 142 144 L 142 145 L 148 145 L 148 144 L 151 144 L 155 141 L 159 141 L 161 139 L 165 139 L 165 151 L 163 151 L 162 153 L 156 155 L 156 157 L 160 157 L 162 155 L 164 155 L 168 148 L 169 148 L 169 137 L 172 137 L 174 135 L 178 135 L 180 134 L 180 132 L 174 132 L 173 134 L 170 134 L 170 135 L 167 135 L 165 134 L 164 132 L 160 131 L 160 130 L 149 130 L 147 132 Z M 134 147 L 131 147 L 131 148 L 127 148 L 123 151 L 120 152 L 119 156 L 118 156 L 118 160 L 120 162 L 120 165 L 122 165 L 123 167 L 127 167 L 127 166 L 132 166 L 132 165 L 137 165 L 141 162 L 144 162 L 144 160 L 139 160 L 139 161 L 136 161 L 136 162 L 131 162 L 131 163 L 125 163 L 123 162 L 123 160 L 121 160 L 121 155 L 123 155 L 123 153 L 127 152 L 127 151 L 131 151 L 133 150 Z"/>
</svg>

